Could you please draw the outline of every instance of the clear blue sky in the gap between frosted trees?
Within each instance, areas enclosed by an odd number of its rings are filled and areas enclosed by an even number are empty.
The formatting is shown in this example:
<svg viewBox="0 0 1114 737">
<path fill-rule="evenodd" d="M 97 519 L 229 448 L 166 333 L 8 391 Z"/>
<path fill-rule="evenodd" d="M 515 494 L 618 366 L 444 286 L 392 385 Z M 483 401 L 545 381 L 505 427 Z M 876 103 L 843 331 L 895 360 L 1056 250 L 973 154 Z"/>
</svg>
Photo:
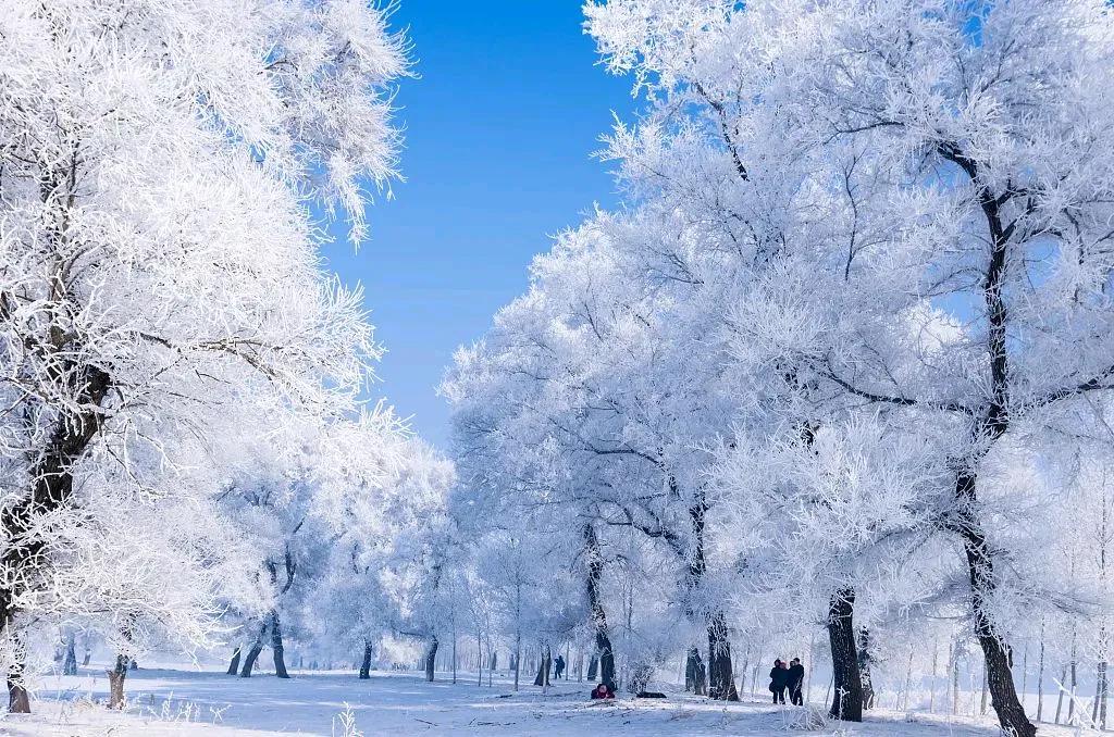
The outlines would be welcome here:
<svg viewBox="0 0 1114 737">
<path fill-rule="evenodd" d="M 358 252 L 325 248 L 361 283 L 387 348 L 378 392 L 444 448 L 448 407 L 436 386 L 452 351 L 480 337 L 528 284 L 550 236 L 594 203 L 615 204 L 594 160 L 615 111 L 629 119 L 628 79 L 597 65 L 580 0 L 402 0 L 419 79 L 401 85 L 402 171 L 394 199 L 369 213 Z"/>
</svg>

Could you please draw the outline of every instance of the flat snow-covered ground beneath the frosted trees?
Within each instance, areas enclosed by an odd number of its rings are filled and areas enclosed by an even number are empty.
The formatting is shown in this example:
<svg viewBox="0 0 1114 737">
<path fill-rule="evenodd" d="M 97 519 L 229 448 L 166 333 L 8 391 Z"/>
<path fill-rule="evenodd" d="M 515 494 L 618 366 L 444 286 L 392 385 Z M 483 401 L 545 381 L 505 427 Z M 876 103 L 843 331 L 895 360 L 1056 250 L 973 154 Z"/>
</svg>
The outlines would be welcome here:
<svg viewBox="0 0 1114 737">
<path fill-rule="evenodd" d="M 377 672 L 356 680 L 351 672 L 296 672 L 291 680 L 265 675 L 251 680 L 215 670 L 133 671 L 126 714 L 105 709 L 108 682 L 102 670 L 51 677 L 37 694 L 36 714 L 0 720 L 0 734 L 65 737 L 262 737 L 304 735 L 909 735 L 991 737 L 990 719 L 877 710 L 862 725 L 802 728 L 804 711 L 768 704 L 711 704 L 671 694 L 664 700 L 590 702 L 588 686 L 561 682 L 547 695 L 524 688 L 512 694 L 506 680 L 494 688 L 463 679 L 427 684 L 412 672 Z M 348 731 L 349 709 L 359 731 Z M 1043 725 L 1040 735 L 1076 734 Z"/>
</svg>

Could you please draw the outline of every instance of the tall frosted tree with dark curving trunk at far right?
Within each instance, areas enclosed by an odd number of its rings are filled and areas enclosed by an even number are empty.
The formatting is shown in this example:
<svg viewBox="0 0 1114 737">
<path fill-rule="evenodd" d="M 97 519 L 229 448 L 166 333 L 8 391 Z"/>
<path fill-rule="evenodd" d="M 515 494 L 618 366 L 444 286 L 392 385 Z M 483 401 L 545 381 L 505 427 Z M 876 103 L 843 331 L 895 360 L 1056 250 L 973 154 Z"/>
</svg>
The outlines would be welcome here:
<svg viewBox="0 0 1114 737">
<path fill-rule="evenodd" d="M 697 266 L 727 257 L 730 282 L 712 284 L 730 289 L 740 391 L 782 381 L 782 401 L 755 406 L 792 432 L 866 409 L 930 438 L 950 478 L 930 517 L 960 546 L 995 709 L 1032 735 L 1000 623 L 996 456 L 1044 424 L 1094 422 L 1072 410 L 1112 386 L 1108 8 L 613 0 L 588 14 L 612 67 L 656 100 L 615 137 L 632 191 L 677 214 Z"/>
</svg>

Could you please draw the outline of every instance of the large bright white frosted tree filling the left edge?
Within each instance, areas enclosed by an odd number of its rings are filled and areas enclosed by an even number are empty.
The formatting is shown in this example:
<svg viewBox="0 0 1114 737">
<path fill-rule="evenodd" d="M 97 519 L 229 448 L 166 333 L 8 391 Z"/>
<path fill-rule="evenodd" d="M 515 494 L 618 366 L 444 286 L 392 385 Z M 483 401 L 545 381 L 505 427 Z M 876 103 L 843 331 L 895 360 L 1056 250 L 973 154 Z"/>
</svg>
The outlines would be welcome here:
<svg viewBox="0 0 1114 737">
<path fill-rule="evenodd" d="M 4 6 L 0 628 L 12 710 L 28 709 L 30 617 L 63 618 L 74 590 L 110 590 L 121 566 L 189 538 L 170 510 L 218 490 L 189 478 L 226 442 L 214 431 L 351 409 L 378 347 L 360 295 L 322 273 L 307 205 L 340 208 L 361 236 L 367 183 L 394 176 L 389 86 L 403 51 L 385 13 L 356 0 Z M 177 538 L 154 543 L 167 527 Z M 59 544 L 71 538 L 89 544 Z M 196 544 L 174 548 L 189 572 L 168 579 L 194 574 Z M 101 613 L 129 639 L 129 622 L 178 601 L 160 593 L 129 588 Z"/>
</svg>

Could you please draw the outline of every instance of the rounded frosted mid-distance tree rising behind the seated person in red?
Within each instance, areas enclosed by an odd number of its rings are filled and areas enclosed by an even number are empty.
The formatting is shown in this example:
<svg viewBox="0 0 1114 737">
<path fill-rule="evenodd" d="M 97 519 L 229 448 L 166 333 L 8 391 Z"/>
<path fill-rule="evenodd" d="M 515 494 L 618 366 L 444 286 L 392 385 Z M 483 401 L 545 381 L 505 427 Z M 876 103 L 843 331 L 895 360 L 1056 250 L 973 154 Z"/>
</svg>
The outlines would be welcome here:
<svg viewBox="0 0 1114 737">
<path fill-rule="evenodd" d="M 584 551 L 577 561 L 600 625 L 597 649 L 612 651 L 599 588 L 604 531 L 635 530 L 658 543 L 667 562 L 626 572 L 665 574 L 678 613 L 704 626 L 713 692 L 733 698 L 716 580 L 725 561 L 706 553 L 715 500 L 704 473 L 732 397 L 717 391 L 722 362 L 693 353 L 704 333 L 678 332 L 694 324 L 682 320 L 687 308 L 633 250 L 657 237 L 670 235 L 606 216 L 565 234 L 536 259 L 530 293 L 499 313 L 481 343 L 458 353 L 442 389 L 455 404 L 467 483 L 500 510 L 489 519 L 525 514 L 537 524 L 544 511 L 546 520 L 560 519 L 545 525 L 559 531 L 559 544 Z"/>
</svg>

